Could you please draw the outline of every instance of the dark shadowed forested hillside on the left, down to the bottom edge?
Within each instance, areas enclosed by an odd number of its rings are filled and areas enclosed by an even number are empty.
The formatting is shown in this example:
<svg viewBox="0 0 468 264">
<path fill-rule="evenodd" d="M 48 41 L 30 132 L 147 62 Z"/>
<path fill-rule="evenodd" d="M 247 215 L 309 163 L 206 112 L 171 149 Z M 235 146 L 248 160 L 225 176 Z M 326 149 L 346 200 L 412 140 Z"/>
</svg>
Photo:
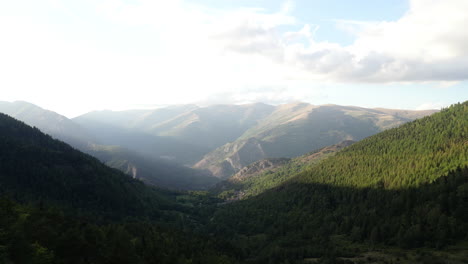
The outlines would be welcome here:
<svg viewBox="0 0 468 264">
<path fill-rule="evenodd" d="M 225 243 L 182 230 L 197 223 L 179 193 L 3 114 L 0 161 L 0 263 L 231 263 Z"/>
</svg>

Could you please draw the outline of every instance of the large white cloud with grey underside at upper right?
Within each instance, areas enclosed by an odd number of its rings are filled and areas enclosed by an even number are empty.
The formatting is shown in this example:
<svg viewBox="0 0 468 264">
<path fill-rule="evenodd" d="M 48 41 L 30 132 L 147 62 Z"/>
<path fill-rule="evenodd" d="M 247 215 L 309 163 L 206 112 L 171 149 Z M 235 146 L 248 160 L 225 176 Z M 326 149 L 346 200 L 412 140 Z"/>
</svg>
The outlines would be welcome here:
<svg viewBox="0 0 468 264">
<path fill-rule="evenodd" d="M 410 10 L 394 22 L 338 20 L 356 35 L 350 46 L 307 41 L 290 42 L 299 32 L 278 34 L 277 28 L 245 24 L 231 32 L 226 46 L 260 54 L 295 67 L 315 79 L 353 82 L 457 81 L 468 79 L 468 1 L 412 0 Z M 258 19 L 261 19 L 259 17 Z M 272 32 L 276 32 L 273 34 Z M 253 34 L 256 33 L 256 34 Z"/>
</svg>

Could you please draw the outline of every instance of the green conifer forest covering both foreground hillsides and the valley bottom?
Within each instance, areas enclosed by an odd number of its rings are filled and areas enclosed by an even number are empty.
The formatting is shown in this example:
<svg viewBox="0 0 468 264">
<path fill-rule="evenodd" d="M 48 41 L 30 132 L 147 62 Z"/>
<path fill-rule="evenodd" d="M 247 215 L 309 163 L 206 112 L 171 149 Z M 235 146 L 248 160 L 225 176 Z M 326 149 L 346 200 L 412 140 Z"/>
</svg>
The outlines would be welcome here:
<svg viewBox="0 0 468 264">
<path fill-rule="evenodd" d="M 468 242 L 468 102 L 284 174 L 223 203 L 149 187 L 0 115 L 0 262 L 357 263 L 390 248 L 444 263 L 427 252 Z"/>
</svg>

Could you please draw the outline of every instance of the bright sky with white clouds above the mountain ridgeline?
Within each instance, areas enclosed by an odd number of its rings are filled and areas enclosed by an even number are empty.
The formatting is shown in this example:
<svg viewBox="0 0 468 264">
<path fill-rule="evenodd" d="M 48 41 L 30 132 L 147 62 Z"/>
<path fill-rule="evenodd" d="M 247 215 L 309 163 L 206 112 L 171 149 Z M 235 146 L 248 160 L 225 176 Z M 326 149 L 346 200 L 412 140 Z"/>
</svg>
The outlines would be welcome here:
<svg viewBox="0 0 468 264">
<path fill-rule="evenodd" d="M 0 2 L 0 101 L 74 117 L 303 101 L 468 100 L 466 0 Z"/>
</svg>

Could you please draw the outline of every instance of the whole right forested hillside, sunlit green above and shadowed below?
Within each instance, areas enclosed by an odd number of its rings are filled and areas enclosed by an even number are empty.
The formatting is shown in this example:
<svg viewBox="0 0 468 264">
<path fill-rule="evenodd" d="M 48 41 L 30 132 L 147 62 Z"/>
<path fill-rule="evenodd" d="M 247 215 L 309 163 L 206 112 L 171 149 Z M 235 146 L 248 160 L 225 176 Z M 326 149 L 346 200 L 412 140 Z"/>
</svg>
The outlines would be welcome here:
<svg viewBox="0 0 468 264">
<path fill-rule="evenodd" d="M 259 263 L 273 252 L 281 263 L 355 256 L 369 245 L 444 248 L 466 241 L 467 135 L 465 102 L 357 142 L 277 188 L 224 206 L 212 230 L 234 234 L 231 241 L 246 243 Z"/>
</svg>

